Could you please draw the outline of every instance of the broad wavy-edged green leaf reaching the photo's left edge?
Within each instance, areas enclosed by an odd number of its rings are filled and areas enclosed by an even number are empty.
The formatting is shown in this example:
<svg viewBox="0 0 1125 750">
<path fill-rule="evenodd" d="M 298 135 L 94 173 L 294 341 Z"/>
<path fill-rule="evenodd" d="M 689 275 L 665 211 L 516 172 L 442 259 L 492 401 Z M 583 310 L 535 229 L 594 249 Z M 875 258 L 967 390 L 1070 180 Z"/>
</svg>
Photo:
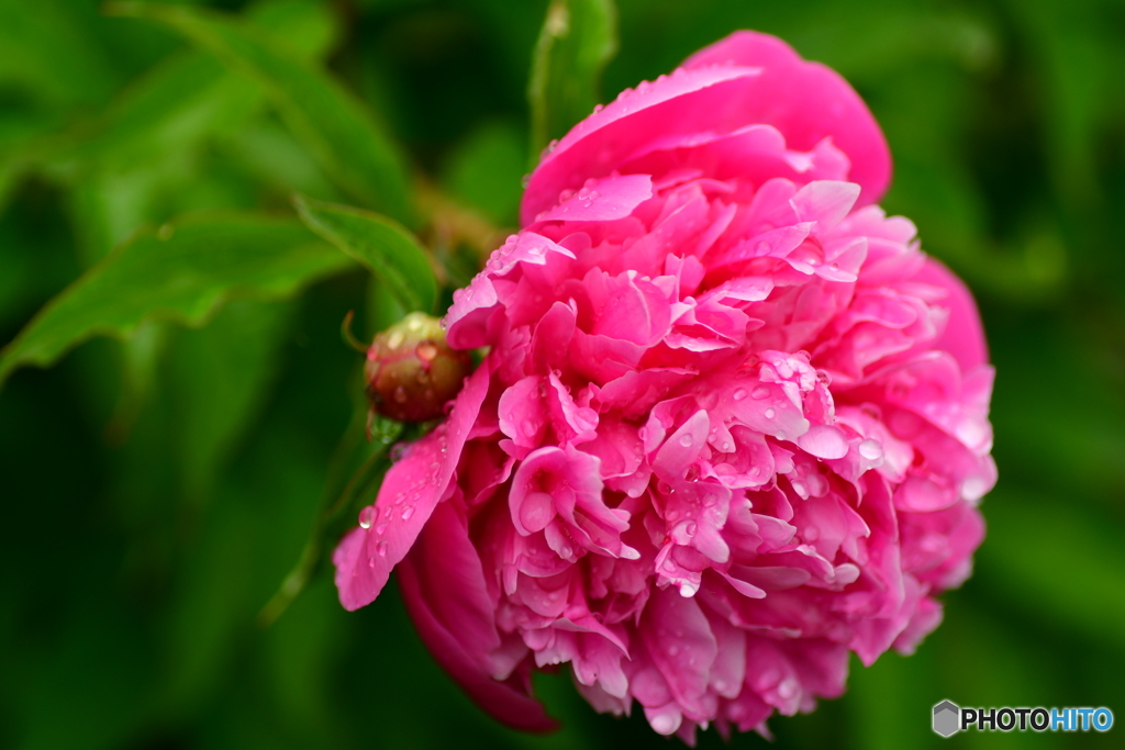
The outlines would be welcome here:
<svg viewBox="0 0 1125 750">
<path fill-rule="evenodd" d="M 349 265 L 289 219 L 210 214 L 144 229 L 55 297 L 0 351 L 0 383 L 143 320 L 198 326 L 230 298 L 279 299 Z"/>
</svg>

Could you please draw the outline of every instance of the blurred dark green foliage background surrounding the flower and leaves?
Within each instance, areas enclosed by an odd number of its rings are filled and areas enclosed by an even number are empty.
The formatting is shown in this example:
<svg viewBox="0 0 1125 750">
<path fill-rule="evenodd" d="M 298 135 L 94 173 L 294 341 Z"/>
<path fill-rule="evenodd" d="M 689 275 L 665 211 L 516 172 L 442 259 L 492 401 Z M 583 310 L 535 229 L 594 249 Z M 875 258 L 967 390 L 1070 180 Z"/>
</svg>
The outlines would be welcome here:
<svg viewBox="0 0 1125 750">
<path fill-rule="evenodd" d="M 431 198 L 515 224 L 544 0 L 210 4 L 366 101 Z M 843 73 L 894 154 L 884 206 L 976 292 L 998 370 L 1000 482 L 975 575 L 917 654 L 854 662 L 845 697 L 771 721 L 771 747 L 1123 747 L 1125 3 L 619 11 L 610 98 L 737 28 Z M 107 18 L 96 0 L 0 0 L 0 343 L 143 224 L 291 215 L 295 190 L 356 200 L 278 111 L 165 26 Z M 457 241 L 433 216 L 408 220 L 440 253 Z M 537 683 L 561 732 L 497 725 L 432 662 L 393 586 L 349 614 L 322 570 L 274 625 L 255 624 L 352 419 L 358 356 L 340 320 L 367 310 L 369 335 L 386 314 L 360 269 L 327 275 L 233 295 L 204 327 L 96 338 L 4 385 L 0 747 L 669 747 L 639 715 L 595 715 L 562 676 Z M 1118 725 L 942 740 L 929 716 L 943 698 L 1108 706 Z"/>
</svg>

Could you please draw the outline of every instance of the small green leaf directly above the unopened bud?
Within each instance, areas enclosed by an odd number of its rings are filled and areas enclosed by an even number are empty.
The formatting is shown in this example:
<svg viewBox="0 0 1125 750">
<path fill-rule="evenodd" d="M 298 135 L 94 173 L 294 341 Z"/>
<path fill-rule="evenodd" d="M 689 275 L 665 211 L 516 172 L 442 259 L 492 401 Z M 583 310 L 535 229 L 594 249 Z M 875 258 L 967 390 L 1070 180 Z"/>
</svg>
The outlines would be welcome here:
<svg viewBox="0 0 1125 750">
<path fill-rule="evenodd" d="M 432 313 L 438 282 L 426 252 L 411 232 L 385 216 L 295 196 L 294 205 L 313 232 L 376 274 L 403 309 Z"/>
</svg>

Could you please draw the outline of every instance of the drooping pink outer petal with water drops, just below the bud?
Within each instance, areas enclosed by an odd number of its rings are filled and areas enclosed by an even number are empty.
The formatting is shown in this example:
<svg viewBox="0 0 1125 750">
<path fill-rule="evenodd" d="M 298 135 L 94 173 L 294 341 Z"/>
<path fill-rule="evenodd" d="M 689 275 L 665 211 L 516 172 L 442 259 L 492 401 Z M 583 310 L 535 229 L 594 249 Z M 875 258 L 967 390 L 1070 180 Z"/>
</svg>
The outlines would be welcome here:
<svg viewBox="0 0 1125 750">
<path fill-rule="evenodd" d="M 369 528 L 352 530 L 332 555 L 345 609 L 375 602 L 390 569 L 406 557 L 438 501 L 446 496 L 469 428 L 488 391 L 488 369 L 477 368 L 453 403 L 449 419 L 390 467 Z"/>
</svg>

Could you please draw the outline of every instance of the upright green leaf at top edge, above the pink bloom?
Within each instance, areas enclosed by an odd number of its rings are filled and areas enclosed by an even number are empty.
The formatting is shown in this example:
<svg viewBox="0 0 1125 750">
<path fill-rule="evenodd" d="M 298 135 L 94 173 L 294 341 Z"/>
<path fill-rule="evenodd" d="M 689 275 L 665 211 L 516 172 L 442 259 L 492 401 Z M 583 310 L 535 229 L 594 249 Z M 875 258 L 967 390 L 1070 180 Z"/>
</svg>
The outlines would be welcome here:
<svg viewBox="0 0 1125 750">
<path fill-rule="evenodd" d="M 612 0 L 552 0 L 531 64 L 531 162 L 598 102 L 598 83 L 618 52 Z"/>
</svg>

